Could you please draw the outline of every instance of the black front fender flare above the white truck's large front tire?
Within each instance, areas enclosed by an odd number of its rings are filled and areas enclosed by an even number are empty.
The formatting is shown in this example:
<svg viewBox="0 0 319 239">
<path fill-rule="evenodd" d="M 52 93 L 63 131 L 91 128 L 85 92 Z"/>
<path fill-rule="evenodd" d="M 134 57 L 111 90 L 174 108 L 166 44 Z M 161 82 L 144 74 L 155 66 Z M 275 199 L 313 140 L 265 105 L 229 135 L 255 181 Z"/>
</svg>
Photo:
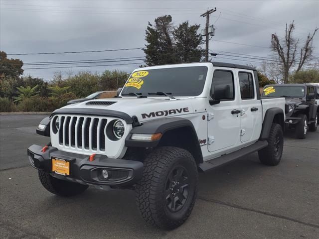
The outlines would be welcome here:
<svg viewBox="0 0 319 239">
<path fill-rule="evenodd" d="M 196 152 L 195 159 L 197 159 L 199 162 L 202 162 L 203 156 L 202 156 L 198 136 L 194 128 L 194 125 L 192 124 L 190 120 L 180 118 L 180 117 L 153 119 L 153 120 L 142 123 L 140 126 L 134 127 L 125 139 L 125 146 L 144 147 L 144 148 L 156 147 L 160 144 L 160 140 L 163 138 L 166 132 L 173 129 L 183 128 L 183 127 L 188 127 L 190 129 L 192 140 L 195 142 L 193 144 L 194 151 Z M 133 133 L 140 133 L 140 134 L 162 133 L 163 136 L 156 141 L 140 141 L 140 140 L 131 139 Z"/>
</svg>

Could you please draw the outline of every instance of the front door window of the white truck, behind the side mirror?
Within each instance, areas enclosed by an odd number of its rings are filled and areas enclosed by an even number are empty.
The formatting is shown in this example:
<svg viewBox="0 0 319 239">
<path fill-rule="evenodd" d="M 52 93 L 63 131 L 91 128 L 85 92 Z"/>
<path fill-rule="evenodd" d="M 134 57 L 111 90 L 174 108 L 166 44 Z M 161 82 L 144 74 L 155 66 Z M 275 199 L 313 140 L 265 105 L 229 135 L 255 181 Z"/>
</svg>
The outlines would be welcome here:
<svg viewBox="0 0 319 239">
<path fill-rule="evenodd" d="M 210 95 L 214 99 L 215 86 L 224 86 L 226 90 L 224 101 L 230 101 L 235 98 L 234 95 L 234 77 L 231 71 L 214 71 L 213 81 L 211 84 Z"/>
</svg>

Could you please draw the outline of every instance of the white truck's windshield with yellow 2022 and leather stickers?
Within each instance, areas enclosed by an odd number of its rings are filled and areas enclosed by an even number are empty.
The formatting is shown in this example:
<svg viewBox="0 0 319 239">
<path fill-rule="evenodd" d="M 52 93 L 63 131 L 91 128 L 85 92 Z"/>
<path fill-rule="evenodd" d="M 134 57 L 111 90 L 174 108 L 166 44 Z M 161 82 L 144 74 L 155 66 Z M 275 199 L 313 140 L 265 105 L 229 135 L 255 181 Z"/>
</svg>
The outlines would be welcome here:
<svg viewBox="0 0 319 239">
<path fill-rule="evenodd" d="M 206 74 L 206 66 L 135 71 L 125 84 L 122 96 L 137 94 L 155 97 L 157 95 L 149 93 L 163 92 L 170 96 L 198 96 L 203 91 Z"/>
</svg>

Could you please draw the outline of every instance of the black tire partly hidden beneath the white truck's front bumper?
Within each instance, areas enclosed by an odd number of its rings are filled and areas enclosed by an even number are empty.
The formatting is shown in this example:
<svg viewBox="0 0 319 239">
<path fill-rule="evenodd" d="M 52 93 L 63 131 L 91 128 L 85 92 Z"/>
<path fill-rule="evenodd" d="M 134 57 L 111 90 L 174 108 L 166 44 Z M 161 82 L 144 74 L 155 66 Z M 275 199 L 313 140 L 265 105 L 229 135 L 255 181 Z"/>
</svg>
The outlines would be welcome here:
<svg viewBox="0 0 319 239">
<path fill-rule="evenodd" d="M 83 193 L 88 186 L 79 183 L 68 182 L 52 177 L 49 173 L 38 170 L 38 175 L 43 187 L 50 193 L 70 197 Z"/>
</svg>

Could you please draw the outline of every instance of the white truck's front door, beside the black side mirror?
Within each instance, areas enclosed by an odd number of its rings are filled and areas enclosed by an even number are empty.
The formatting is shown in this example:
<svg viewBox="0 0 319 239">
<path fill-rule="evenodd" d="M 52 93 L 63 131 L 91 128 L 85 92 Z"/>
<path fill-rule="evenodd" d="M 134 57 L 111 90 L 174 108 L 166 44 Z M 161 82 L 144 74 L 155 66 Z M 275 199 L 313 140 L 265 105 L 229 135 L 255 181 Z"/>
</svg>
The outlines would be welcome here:
<svg viewBox="0 0 319 239">
<path fill-rule="evenodd" d="M 217 85 L 227 86 L 229 89 L 225 99 L 219 104 L 209 105 L 208 117 L 208 151 L 227 151 L 238 144 L 240 136 L 240 104 L 236 94 L 237 82 L 235 71 L 215 69 L 210 95 L 214 99 L 214 89 Z M 237 111 L 237 113 L 236 113 Z"/>
</svg>

